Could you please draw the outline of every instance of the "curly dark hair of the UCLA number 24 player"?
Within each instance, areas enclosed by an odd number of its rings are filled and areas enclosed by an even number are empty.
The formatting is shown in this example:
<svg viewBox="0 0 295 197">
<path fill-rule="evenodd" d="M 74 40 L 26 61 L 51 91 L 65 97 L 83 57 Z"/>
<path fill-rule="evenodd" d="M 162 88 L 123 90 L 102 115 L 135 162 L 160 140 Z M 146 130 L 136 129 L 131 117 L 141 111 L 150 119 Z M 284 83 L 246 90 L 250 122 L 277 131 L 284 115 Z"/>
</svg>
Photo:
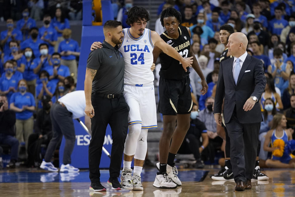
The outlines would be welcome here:
<svg viewBox="0 0 295 197">
<path fill-rule="evenodd" d="M 129 11 L 126 11 L 125 14 L 128 16 L 126 23 L 128 25 L 137 22 L 139 19 L 145 19 L 147 22 L 150 20 L 150 15 L 148 11 L 143 7 L 134 6 Z"/>
</svg>

